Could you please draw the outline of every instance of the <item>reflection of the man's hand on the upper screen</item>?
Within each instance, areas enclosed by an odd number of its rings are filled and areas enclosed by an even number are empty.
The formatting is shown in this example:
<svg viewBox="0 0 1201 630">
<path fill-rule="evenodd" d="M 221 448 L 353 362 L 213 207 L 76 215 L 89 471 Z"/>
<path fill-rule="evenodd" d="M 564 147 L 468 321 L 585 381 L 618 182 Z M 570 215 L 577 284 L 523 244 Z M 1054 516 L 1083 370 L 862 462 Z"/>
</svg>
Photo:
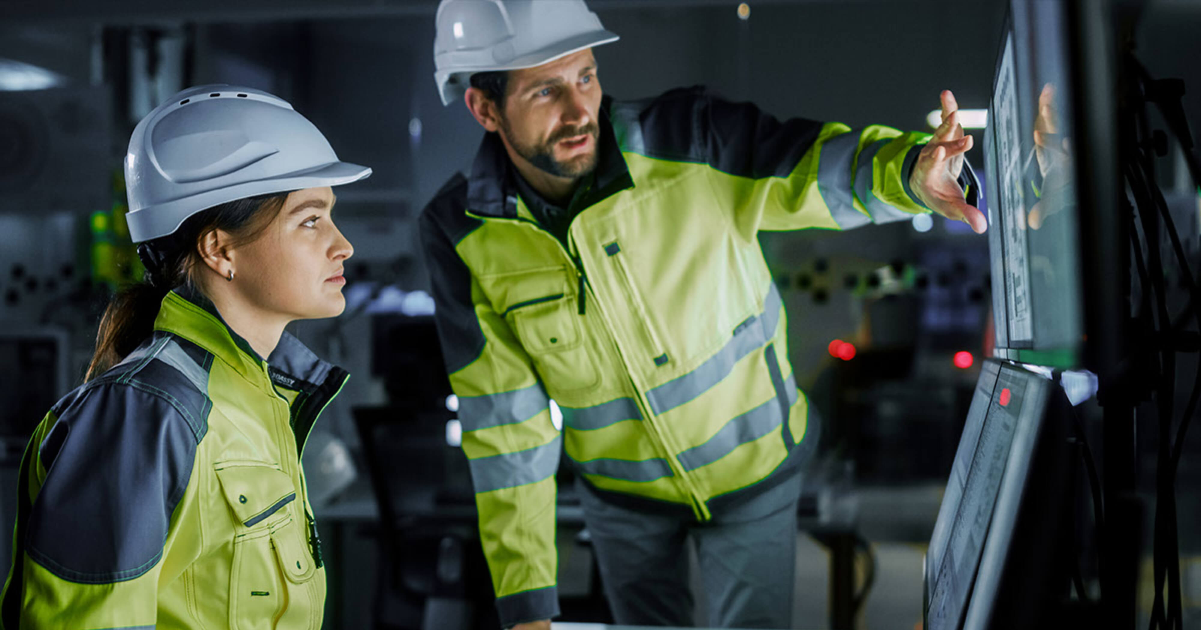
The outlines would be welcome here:
<svg viewBox="0 0 1201 630">
<path fill-rule="evenodd" d="M 1047 218 L 1062 211 L 1069 197 L 1064 193 L 1071 184 L 1071 144 L 1062 134 L 1059 106 L 1054 98 L 1054 84 L 1047 83 L 1039 94 L 1038 115 L 1034 116 L 1033 162 L 1038 172 L 1027 168 L 1030 191 L 1038 198 L 1030 206 L 1027 224 L 1039 229 Z M 1027 161 L 1027 167 L 1033 166 Z"/>
</svg>

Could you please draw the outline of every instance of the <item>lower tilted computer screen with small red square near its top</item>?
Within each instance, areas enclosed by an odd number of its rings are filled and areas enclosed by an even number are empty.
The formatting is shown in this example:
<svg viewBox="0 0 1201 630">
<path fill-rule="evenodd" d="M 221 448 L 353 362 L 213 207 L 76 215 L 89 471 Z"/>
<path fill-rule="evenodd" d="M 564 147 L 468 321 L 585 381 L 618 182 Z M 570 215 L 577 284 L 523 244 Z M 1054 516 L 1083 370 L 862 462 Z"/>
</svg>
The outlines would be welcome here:
<svg viewBox="0 0 1201 630">
<path fill-rule="evenodd" d="M 978 574 L 986 551 L 1011 540 L 1027 488 L 1033 446 L 1040 434 L 1052 383 L 1016 365 L 988 360 L 955 454 L 946 492 L 926 553 L 925 628 L 956 630 L 976 606 Z M 1000 560 L 1004 564 L 1008 545 Z"/>
</svg>

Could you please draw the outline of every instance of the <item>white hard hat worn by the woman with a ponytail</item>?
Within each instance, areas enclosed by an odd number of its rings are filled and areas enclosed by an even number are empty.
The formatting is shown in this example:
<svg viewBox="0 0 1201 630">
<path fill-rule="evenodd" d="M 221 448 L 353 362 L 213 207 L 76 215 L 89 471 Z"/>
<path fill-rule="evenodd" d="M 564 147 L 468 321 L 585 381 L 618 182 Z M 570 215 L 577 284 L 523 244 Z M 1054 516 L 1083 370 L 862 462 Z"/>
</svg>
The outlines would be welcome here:
<svg viewBox="0 0 1201 630">
<path fill-rule="evenodd" d="M 321 131 L 282 98 L 201 85 L 171 97 L 135 127 L 125 156 L 125 218 L 133 242 L 142 242 L 215 205 L 370 174 L 340 162 Z"/>
</svg>

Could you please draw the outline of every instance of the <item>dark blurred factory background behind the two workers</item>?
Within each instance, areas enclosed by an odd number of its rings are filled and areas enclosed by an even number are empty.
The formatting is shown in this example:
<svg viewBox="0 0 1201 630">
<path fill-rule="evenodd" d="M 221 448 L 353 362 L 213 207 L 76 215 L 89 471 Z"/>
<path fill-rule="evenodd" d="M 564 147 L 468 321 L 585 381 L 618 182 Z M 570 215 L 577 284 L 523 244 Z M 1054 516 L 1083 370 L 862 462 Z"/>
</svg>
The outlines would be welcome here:
<svg viewBox="0 0 1201 630">
<path fill-rule="evenodd" d="M 471 485 L 455 449 L 456 401 L 416 229 L 434 193 L 470 168 L 482 137 L 461 103 L 440 103 L 436 6 L 0 4 L 0 516 L 7 526 L 29 432 L 80 383 L 107 298 L 141 275 L 123 218 L 121 160 L 133 125 L 185 86 L 250 85 L 289 101 L 342 160 L 375 170 L 337 191 L 337 224 L 354 245 L 346 312 L 289 326 L 353 374 L 305 452 L 328 542 L 325 628 L 405 626 L 423 608 L 442 606 L 454 617 L 465 601 L 491 606 L 486 576 L 462 559 L 474 551 Z M 748 19 L 731 1 L 590 6 L 621 35 L 596 52 L 605 94 L 617 98 L 705 84 L 778 118 L 920 131 L 930 131 L 942 89 L 954 90 L 963 108 L 987 107 L 1005 14 L 1000 1 L 949 0 L 759 0 L 749 2 Z M 1201 90 L 1196 32 L 1201 2 L 1148 4 L 1136 34 L 1143 61 Z M 1184 102 L 1201 121 L 1196 92 Z M 978 168 L 981 146 L 968 156 Z M 1179 160 L 1161 163 L 1160 185 L 1196 256 L 1196 190 Z M 831 611 L 849 605 L 860 626 L 908 630 L 921 622 L 922 553 L 991 353 L 987 236 L 934 217 L 847 233 L 764 233 L 760 241 L 788 308 L 797 385 L 826 426 L 802 496 L 793 628 L 827 628 Z M 1194 361 L 1179 368 L 1191 371 Z M 1181 382 L 1191 382 L 1191 372 Z M 1099 415 L 1095 402 L 1081 408 L 1087 419 Z M 1194 431 L 1184 449 L 1181 523 L 1201 516 L 1187 499 L 1199 486 L 1199 439 Z M 1151 442 L 1141 450 L 1153 452 Z M 1154 457 L 1146 462 L 1152 467 Z M 1149 494 L 1152 475 L 1145 476 Z M 578 522 L 560 528 L 563 619 L 603 622 L 586 536 Z M 1197 532 L 1182 524 L 1182 588 L 1194 622 Z M 1151 527 L 1143 533 L 1149 541 Z M 1149 576 L 1149 559 L 1141 572 Z M 836 580 L 850 580 L 849 604 Z M 1149 578 L 1141 583 L 1146 616 Z"/>
</svg>

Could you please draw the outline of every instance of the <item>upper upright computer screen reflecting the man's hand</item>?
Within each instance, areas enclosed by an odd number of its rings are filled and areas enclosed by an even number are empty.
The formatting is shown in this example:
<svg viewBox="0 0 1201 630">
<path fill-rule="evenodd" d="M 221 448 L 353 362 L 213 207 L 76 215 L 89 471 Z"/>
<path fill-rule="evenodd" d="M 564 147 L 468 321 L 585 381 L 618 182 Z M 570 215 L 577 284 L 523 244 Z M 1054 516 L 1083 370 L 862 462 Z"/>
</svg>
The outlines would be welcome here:
<svg viewBox="0 0 1201 630">
<path fill-rule="evenodd" d="M 1071 368 L 1083 337 L 1068 20 L 1017 0 L 1003 31 L 985 132 L 998 355 Z"/>
</svg>

